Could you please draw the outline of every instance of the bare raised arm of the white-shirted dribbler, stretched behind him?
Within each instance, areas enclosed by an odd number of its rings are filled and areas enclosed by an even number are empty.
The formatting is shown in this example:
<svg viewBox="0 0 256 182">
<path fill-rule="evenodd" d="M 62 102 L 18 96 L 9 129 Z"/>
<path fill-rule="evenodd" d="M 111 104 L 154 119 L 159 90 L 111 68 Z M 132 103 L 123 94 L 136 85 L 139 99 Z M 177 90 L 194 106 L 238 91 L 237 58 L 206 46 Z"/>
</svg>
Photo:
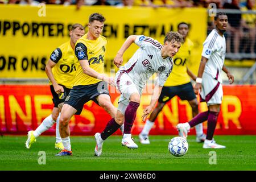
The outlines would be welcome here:
<svg viewBox="0 0 256 182">
<path fill-rule="evenodd" d="M 117 55 L 114 58 L 114 64 L 119 68 L 123 63 L 123 53 L 131 46 L 132 43 L 135 42 L 137 36 L 130 35 L 125 42 L 123 43 L 122 47 L 117 52 Z"/>
</svg>

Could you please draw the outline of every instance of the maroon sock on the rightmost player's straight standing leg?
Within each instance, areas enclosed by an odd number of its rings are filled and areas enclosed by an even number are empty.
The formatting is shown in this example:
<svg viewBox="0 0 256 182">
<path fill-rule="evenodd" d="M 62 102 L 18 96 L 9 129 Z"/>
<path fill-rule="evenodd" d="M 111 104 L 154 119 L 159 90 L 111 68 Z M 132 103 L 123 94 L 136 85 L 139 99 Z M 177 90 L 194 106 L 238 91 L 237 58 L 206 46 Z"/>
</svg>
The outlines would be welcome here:
<svg viewBox="0 0 256 182">
<path fill-rule="evenodd" d="M 210 111 L 208 115 L 208 123 L 207 123 L 207 139 L 212 140 L 214 130 L 217 125 L 218 113 Z"/>
</svg>

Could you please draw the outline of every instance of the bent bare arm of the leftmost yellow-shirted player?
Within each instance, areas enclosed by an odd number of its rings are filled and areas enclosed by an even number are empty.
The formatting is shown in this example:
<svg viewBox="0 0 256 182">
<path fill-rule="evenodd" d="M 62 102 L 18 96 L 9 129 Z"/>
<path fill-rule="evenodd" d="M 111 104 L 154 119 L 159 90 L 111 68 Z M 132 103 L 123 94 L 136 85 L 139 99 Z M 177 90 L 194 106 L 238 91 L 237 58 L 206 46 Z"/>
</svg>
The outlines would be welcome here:
<svg viewBox="0 0 256 182">
<path fill-rule="evenodd" d="M 63 93 L 64 89 L 63 86 L 57 84 L 56 80 L 54 79 L 52 68 L 55 67 L 56 63 L 54 63 L 51 59 L 48 60 L 46 64 L 46 75 L 48 76 L 49 80 L 52 82 L 52 86 L 54 88 L 54 91 L 59 94 Z"/>
</svg>

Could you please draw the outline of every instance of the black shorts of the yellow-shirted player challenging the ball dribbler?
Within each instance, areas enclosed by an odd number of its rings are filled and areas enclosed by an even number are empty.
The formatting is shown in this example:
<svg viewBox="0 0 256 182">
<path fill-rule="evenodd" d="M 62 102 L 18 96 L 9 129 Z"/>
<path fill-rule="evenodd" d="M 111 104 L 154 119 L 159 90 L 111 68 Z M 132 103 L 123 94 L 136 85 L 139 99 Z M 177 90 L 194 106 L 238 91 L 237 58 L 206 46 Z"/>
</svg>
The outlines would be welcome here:
<svg viewBox="0 0 256 182">
<path fill-rule="evenodd" d="M 90 100 L 98 104 L 97 96 L 100 94 L 108 94 L 108 84 L 105 81 L 100 81 L 92 85 L 77 85 L 73 86 L 64 104 L 74 107 L 79 115 L 84 107 L 84 104 Z"/>
</svg>

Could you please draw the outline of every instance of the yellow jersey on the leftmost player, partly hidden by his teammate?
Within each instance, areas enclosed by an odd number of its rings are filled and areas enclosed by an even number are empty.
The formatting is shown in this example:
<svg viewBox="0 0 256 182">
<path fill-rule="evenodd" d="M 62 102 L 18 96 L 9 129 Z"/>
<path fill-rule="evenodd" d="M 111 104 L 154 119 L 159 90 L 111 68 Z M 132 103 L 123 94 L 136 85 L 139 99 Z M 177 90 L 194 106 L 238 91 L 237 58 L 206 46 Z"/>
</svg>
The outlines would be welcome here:
<svg viewBox="0 0 256 182">
<path fill-rule="evenodd" d="M 57 84 L 71 89 L 76 75 L 76 67 L 74 50 L 71 47 L 70 41 L 56 48 L 52 52 L 50 59 L 56 63 L 52 68 L 52 73 Z M 50 84 L 52 85 L 51 81 Z"/>
</svg>

